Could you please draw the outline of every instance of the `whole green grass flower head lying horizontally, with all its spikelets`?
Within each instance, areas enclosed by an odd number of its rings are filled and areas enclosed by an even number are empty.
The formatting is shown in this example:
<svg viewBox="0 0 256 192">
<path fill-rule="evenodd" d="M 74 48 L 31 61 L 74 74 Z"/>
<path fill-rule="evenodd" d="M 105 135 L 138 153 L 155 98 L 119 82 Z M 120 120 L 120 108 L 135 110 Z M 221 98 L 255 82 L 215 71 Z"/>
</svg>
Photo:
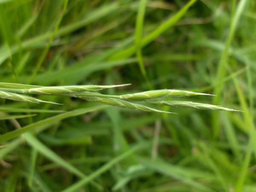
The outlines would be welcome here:
<svg viewBox="0 0 256 192">
<path fill-rule="evenodd" d="M 9 86 L 8 86 L 9 85 Z M 30 96 L 26 96 L 24 94 L 18 93 L 32 93 L 32 94 L 41 94 L 41 95 L 64 95 L 64 96 L 72 96 L 80 99 L 85 99 L 88 101 L 99 102 L 106 105 L 112 105 L 116 107 L 128 108 L 128 109 L 137 109 L 142 111 L 156 111 L 163 113 L 172 113 L 167 111 L 160 111 L 154 108 L 149 108 L 144 105 L 139 105 L 137 103 L 133 103 L 132 101 L 146 101 L 151 104 L 160 104 L 160 105 L 168 105 L 175 106 L 180 108 L 194 108 L 194 109 L 207 109 L 207 110 L 225 110 L 225 111 L 238 111 L 234 109 L 222 108 L 220 106 L 202 104 L 202 103 L 193 103 L 193 102 L 179 102 L 179 101 L 148 101 L 149 99 L 156 98 L 164 98 L 164 97 L 183 97 L 183 96 L 196 96 L 196 95 L 210 95 L 207 93 L 195 93 L 192 91 L 185 90 L 151 90 L 145 91 L 141 93 L 133 93 L 133 94 L 125 94 L 125 95 L 105 95 L 101 93 L 92 92 L 93 90 L 102 90 L 106 88 L 113 87 L 122 87 L 130 84 L 121 84 L 121 85 L 73 85 L 73 86 L 55 86 L 55 87 L 38 87 L 38 88 L 30 88 L 30 89 L 19 89 L 18 87 L 26 87 L 26 85 L 22 84 L 5 84 L 0 83 L 0 97 L 3 99 L 12 99 L 16 101 L 23 102 L 47 102 L 42 101 L 40 99 L 35 99 Z M 1 87 L 2 86 L 2 87 Z M 12 88 L 10 88 L 12 87 Z M 8 91 L 6 91 L 8 90 Z M 15 93 L 17 92 L 17 93 Z M 52 104 L 57 104 L 55 102 L 49 102 Z"/>
</svg>

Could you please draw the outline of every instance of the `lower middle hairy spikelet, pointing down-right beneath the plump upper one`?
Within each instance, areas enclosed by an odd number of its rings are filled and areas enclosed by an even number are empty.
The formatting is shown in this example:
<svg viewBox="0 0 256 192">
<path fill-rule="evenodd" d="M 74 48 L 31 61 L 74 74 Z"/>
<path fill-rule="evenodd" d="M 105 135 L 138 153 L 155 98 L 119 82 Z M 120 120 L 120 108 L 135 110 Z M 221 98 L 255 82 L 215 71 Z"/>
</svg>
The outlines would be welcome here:
<svg viewBox="0 0 256 192">
<path fill-rule="evenodd" d="M 161 112 L 161 113 L 171 113 L 167 111 L 160 111 L 154 108 L 149 108 L 144 105 L 136 104 L 136 103 L 131 103 L 128 101 L 123 101 L 120 99 L 113 99 L 113 98 L 100 98 L 100 97 L 90 97 L 90 96 L 77 96 L 80 99 L 85 99 L 88 101 L 94 101 L 94 102 L 99 102 L 103 103 L 106 105 L 112 105 L 116 107 L 122 107 L 122 108 L 128 108 L 128 109 L 136 109 L 136 110 L 141 110 L 141 111 L 155 111 L 155 112 Z"/>
</svg>

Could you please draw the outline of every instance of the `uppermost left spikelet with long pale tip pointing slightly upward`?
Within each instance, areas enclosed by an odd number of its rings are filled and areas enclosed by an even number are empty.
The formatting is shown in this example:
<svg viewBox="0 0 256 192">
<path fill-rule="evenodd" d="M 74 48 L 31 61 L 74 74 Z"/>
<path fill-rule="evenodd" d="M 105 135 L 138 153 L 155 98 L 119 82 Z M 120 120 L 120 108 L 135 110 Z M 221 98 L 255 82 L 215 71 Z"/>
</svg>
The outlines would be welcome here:
<svg viewBox="0 0 256 192">
<path fill-rule="evenodd" d="M 82 93 L 92 90 L 102 90 L 112 87 L 122 87 L 130 84 L 120 85 L 73 85 L 73 86 L 57 86 L 57 87 L 38 87 L 27 90 L 32 94 L 69 94 L 69 93 Z"/>
</svg>

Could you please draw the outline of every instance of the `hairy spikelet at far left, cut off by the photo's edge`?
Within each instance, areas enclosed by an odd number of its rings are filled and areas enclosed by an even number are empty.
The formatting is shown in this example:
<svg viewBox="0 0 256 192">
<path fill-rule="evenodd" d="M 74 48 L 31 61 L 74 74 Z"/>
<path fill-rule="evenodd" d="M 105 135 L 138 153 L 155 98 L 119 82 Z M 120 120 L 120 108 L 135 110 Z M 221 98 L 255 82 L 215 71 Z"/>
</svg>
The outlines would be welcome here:
<svg viewBox="0 0 256 192">
<path fill-rule="evenodd" d="M 17 93 L 6 92 L 6 91 L 0 91 L 0 98 L 11 99 L 11 100 L 15 100 L 15 101 L 22 101 L 22 102 L 33 102 L 33 103 L 45 102 L 45 103 L 58 104 L 55 102 L 47 102 L 47 101 L 43 101 L 40 99 L 36 99 L 34 97 L 17 94 Z"/>
</svg>

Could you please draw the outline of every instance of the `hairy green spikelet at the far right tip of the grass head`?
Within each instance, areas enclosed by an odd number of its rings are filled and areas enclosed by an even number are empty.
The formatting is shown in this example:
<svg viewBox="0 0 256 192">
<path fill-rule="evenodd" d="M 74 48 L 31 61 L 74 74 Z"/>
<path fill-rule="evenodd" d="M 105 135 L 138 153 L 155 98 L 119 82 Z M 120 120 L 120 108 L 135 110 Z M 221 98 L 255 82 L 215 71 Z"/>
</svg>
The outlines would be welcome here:
<svg viewBox="0 0 256 192">
<path fill-rule="evenodd" d="M 151 104 L 159 104 L 159 105 L 168 105 L 173 106 L 177 108 L 193 108 L 193 109 L 201 109 L 201 110 L 224 110 L 224 111 L 239 111 L 229 108 L 223 108 L 218 105 L 209 105 L 204 103 L 195 103 L 195 102 L 189 102 L 189 101 L 147 101 Z"/>
</svg>

